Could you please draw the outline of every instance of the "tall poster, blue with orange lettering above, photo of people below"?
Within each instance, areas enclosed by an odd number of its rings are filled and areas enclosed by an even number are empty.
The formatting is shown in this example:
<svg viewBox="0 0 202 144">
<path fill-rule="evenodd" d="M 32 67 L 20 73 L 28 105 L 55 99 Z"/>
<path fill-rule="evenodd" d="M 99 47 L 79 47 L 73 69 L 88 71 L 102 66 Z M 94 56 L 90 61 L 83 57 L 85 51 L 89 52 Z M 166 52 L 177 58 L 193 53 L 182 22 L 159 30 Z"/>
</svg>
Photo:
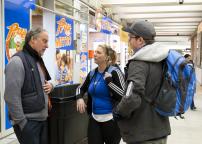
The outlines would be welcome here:
<svg viewBox="0 0 202 144">
<path fill-rule="evenodd" d="M 73 38 L 73 20 L 57 15 L 55 80 L 58 85 L 73 83 Z"/>
</svg>

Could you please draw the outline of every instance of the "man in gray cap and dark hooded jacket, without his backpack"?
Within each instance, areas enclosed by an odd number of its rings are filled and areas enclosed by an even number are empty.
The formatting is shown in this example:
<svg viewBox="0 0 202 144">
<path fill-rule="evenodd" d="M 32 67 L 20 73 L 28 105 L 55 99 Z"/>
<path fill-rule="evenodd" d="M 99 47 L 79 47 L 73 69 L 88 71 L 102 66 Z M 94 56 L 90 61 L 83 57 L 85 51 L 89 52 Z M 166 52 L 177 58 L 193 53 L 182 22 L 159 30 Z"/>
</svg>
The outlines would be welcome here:
<svg viewBox="0 0 202 144">
<path fill-rule="evenodd" d="M 122 138 L 127 144 L 166 144 L 170 135 L 168 117 L 159 115 L 151 102 L 158 94 L 162 78 L 162 60 L 169 49 L 155 43 L 156 32 L 148 21 L 124 28 L 134 55 L 126 65 L 126 92 L 113 111 Z"/>
</svg>

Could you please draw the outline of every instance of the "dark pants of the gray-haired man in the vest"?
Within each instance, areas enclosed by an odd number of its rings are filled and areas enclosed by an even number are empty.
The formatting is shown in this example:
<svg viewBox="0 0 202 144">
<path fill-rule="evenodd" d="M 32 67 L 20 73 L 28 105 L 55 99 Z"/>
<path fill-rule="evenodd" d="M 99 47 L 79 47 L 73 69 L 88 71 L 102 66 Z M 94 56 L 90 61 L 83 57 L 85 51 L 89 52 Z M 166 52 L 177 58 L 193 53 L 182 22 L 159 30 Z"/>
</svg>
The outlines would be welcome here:
<svg viewBox="0 0 202 144">
<path fill-rule="evenodd" d="M 20 144 L 48 144 L 47 121 L 28 120 L 23 130 L 18 125 L 13 128 Z"/>
</svg>

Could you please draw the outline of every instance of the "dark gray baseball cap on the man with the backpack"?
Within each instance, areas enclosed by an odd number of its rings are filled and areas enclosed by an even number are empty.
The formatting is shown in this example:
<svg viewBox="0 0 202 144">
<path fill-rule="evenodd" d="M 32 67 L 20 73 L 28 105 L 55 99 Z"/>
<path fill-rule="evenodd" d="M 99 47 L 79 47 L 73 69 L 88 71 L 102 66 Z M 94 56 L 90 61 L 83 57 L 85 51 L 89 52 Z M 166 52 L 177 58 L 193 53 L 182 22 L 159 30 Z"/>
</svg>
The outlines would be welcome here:
<svg viewBox="0 0 202 144">
<path fill-rule="evenodd" d="M 153 24 L 148 21 L 133 22 L 130 27 L 125 27 L 122 30 L 146 40 L 153 40 L 156 36 Z"/>
</svg>

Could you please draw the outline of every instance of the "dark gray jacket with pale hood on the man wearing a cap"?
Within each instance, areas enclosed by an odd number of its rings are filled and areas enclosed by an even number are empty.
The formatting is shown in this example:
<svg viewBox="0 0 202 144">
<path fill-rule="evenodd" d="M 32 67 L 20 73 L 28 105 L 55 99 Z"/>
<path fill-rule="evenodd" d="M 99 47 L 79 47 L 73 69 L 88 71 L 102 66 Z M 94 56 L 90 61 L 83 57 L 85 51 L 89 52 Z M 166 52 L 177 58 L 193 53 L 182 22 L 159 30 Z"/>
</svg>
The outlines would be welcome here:
<svg viewBox="0 0 202 144">
<path fill-rule="evenodd" d="M 168 117 L 160 116 L 145 99 L 154 99 L 158 93 L 162 63 L 169 48 L 158 43 L 147 45 L 129 60 L 126 83 L 133 82 L 132 92 L 122 98 L 116 111 L 124 119 L 118 121 L 123 140 L 127 143 L 144 142 L 170 134 Z"/>
</svg>

